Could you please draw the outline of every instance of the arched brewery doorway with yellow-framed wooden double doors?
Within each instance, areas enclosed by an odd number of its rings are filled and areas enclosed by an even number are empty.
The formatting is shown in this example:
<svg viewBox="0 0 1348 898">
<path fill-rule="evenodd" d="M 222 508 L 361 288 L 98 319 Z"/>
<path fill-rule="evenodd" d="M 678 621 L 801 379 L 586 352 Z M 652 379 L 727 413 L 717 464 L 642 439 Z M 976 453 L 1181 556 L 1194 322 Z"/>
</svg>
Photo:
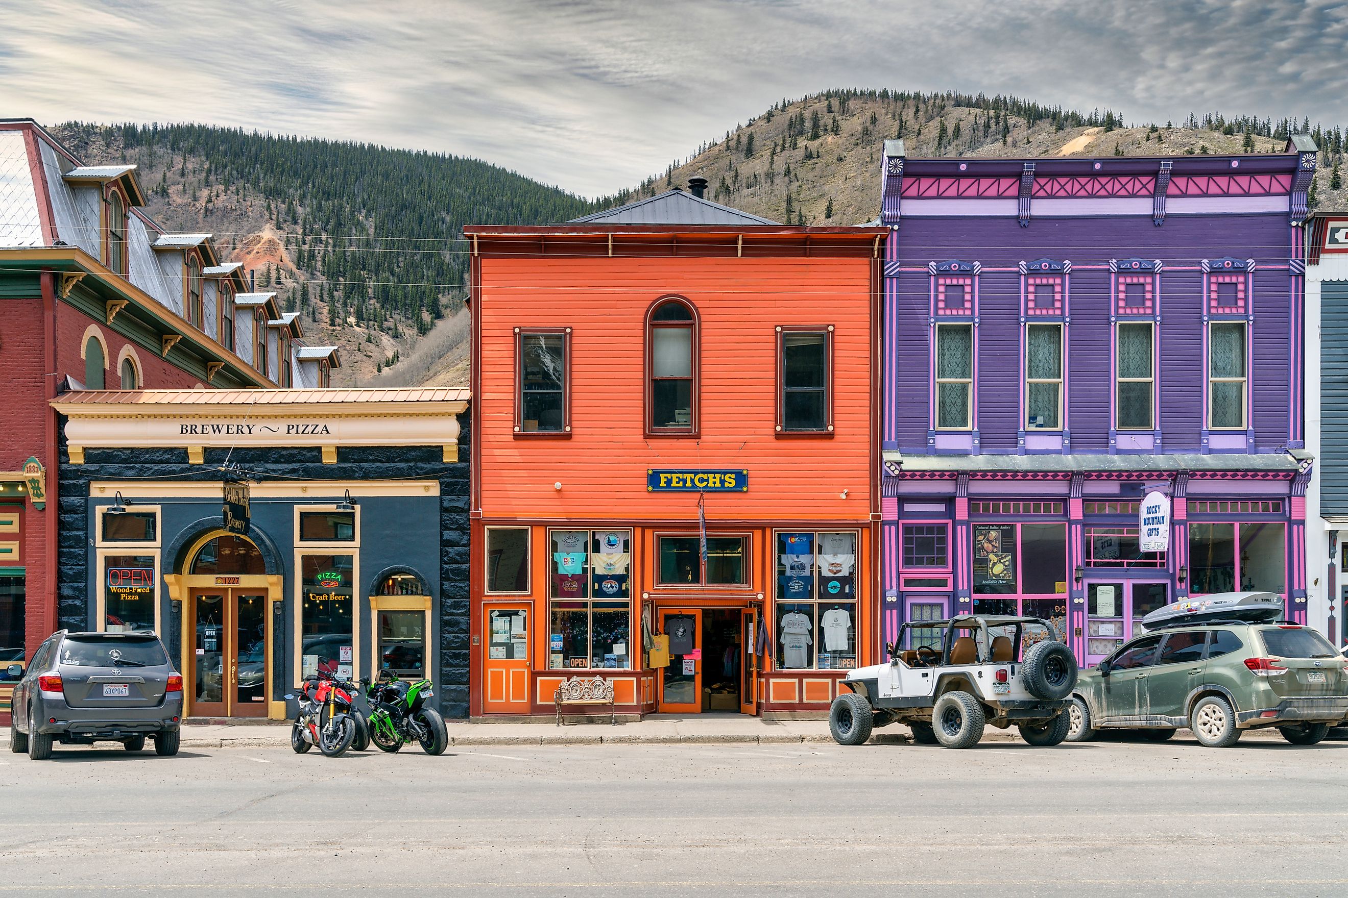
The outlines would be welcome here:
<svg viewBox="0 0 1348 898">
<path fill-rule="evenodd" d="M 271 710 L 271 602 L 257 545 L 213 532 L 185 553 L 183 664 L 193 716 L 266 718 Z"/>
</svg>

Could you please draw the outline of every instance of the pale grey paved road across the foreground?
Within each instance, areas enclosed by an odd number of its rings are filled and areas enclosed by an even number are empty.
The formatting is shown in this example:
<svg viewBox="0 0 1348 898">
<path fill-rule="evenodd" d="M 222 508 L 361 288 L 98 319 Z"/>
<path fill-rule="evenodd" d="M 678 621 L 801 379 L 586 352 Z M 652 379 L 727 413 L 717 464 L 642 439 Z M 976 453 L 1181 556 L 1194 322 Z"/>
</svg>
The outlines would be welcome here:
<svg viewBox="0 0 1348 898">
<path fill-rule="evenodd" d="M 1341 895 L 1348 743 L 0 755 L 0 895 Z"/>
</svg>

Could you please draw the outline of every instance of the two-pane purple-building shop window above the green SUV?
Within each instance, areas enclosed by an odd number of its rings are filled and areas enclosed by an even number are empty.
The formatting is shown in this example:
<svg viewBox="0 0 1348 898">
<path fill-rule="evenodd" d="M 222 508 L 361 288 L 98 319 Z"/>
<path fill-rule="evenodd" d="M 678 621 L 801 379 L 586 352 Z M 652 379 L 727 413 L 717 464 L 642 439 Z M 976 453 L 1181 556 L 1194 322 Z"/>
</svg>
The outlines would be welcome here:
<svg viewBox="0 0 1348 898">
<path fill-rule="evenodd" d="M 1189 594 L 1287 592 L 1287 525 L 1189 522 Z"/>
</svg>

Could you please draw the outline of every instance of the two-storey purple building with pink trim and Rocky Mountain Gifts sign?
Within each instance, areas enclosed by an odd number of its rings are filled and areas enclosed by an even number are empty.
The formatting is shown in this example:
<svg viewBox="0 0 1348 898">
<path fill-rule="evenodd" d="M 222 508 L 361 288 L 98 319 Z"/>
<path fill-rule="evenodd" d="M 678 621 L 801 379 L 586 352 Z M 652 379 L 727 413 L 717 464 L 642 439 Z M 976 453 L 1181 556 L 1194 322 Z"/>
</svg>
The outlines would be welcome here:
<svg viewBox="0 0 1348 898">
<path fill-rule="evenodd" d="M 883 640 L 1022 613 L 1092 664 L 1188 596 L 1268 590 L 1305 619 L 1314 166 L 1306 137 L 1140 159 L 886 143 Z M 1165 552 L 1139 545 L 1151 490 Z"/>
</svg>

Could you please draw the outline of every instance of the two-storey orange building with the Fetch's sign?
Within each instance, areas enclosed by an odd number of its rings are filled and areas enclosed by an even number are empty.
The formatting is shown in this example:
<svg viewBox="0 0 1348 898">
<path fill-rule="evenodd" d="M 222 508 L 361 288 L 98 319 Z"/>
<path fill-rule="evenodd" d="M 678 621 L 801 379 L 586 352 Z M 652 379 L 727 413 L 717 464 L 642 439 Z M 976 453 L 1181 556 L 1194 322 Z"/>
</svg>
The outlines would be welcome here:
<svg viewBox="0 0 1348 898">
<path fill-rule="evenodd" d="M 884 230 L 704 186 L 465 230 L 473 716 L 576 675 L 628 715 L 824 715 L 879 657 Z"/>
</svg>

